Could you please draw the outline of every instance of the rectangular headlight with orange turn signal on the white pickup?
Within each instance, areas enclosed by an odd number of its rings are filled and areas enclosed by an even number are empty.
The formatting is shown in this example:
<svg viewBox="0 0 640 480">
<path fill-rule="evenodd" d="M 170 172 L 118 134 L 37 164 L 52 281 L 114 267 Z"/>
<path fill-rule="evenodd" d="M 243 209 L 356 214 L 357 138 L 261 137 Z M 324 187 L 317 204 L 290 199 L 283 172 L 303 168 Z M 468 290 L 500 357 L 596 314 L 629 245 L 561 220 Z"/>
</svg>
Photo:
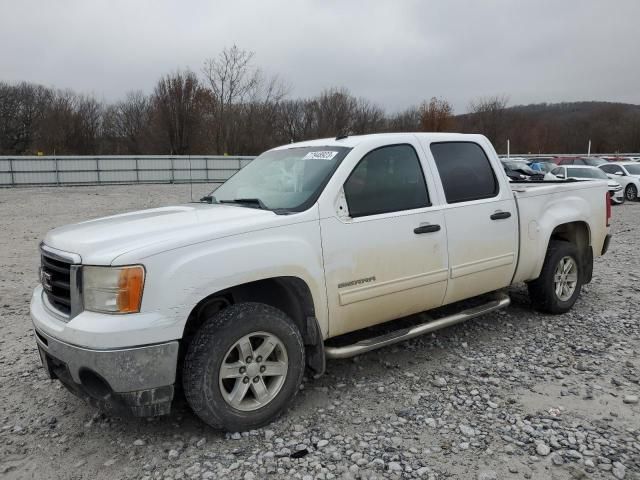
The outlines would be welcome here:
<svg viewBox="0 0 640 480">
<path fill-rule="evenodd" d="M 142 303 L 144 267 L 82 267 L 85 310 L 137 313 Z"/>
</svg>

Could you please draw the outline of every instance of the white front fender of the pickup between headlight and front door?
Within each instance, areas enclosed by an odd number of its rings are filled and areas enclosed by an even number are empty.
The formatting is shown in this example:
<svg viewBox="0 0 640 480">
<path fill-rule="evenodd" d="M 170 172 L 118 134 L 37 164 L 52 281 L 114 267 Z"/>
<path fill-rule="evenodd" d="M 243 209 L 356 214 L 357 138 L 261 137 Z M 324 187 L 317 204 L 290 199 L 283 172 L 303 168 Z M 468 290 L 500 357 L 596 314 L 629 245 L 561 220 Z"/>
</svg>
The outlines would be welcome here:
<svg viewBox="0 0 640 480">
<path fill-rule="evenodd" d="M 170 316 L 181 338 L 189 313 L 207 296 L 257 280 L 297 277 L 311 292 L 316 318 L 328 333 L 320 227 L 308 221 L 225 237 L 145 260 L 142 310 Z"/>
</svg>

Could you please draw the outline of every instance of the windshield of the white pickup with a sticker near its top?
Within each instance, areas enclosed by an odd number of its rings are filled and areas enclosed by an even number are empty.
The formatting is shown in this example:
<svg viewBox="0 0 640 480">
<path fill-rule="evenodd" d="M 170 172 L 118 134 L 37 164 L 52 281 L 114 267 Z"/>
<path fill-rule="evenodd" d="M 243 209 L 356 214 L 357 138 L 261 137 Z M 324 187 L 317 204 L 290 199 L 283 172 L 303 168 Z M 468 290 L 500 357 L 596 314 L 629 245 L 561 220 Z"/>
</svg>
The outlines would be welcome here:
<svg viewBox="0 0 640 480">
<path fill-rule="evenodd" d="M 333 146 L 271 150 L 256 157 L 205 198 L 213 203 L 268 210 L 306 210 L 350 150 Z"/>
</svg>

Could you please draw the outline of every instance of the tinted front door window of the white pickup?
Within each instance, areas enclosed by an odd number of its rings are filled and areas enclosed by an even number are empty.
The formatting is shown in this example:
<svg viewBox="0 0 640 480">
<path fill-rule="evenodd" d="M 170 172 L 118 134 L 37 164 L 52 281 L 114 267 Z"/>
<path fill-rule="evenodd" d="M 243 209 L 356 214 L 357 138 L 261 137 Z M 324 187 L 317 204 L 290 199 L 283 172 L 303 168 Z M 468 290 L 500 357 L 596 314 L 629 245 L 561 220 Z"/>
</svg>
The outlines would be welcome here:
<svg viewBox="0 0 640 480">
<path fill-rule="evenodd" d="M 416 151 L 390 145 L 367 153 L 344 184 L 351 217 L 428 207 L 429 195 Z"/>
</svg>

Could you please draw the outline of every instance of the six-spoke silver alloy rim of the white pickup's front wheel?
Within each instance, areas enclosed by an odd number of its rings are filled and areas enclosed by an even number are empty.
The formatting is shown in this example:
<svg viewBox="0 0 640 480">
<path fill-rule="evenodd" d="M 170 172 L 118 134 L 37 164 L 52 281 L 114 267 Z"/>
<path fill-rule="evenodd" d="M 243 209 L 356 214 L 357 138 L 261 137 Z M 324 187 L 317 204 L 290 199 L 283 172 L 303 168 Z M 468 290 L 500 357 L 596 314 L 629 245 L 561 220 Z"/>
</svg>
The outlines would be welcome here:
<svg viewBox="0 0 640 480">
<path fill-rule="evenodd" d="M 219 386 L 225 402 L 248 412 L 278 395 L 289 370 L 287 349 L 272 333 L 254 332 L 236 341 L 220 366 Z"/>
</svg>

